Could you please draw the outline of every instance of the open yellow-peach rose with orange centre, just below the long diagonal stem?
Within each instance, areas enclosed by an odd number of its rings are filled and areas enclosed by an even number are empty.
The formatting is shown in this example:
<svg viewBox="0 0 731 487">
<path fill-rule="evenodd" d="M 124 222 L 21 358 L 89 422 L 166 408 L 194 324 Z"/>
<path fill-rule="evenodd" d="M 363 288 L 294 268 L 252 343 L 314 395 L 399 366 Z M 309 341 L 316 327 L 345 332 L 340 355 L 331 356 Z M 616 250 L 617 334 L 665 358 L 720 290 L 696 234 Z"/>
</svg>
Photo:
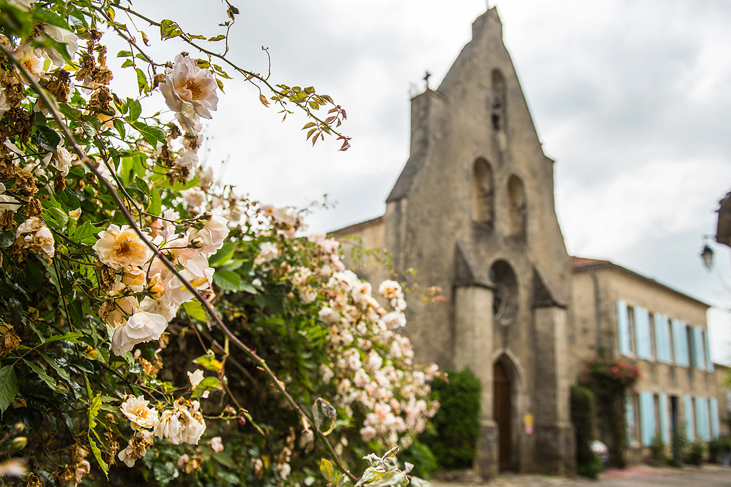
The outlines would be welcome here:
<svg viewBox="0 0 731 487">
<path fill-rule="evenodd" d="M 94 244 L 99 260 L 113 269 L 125 266 L 143 266 L 154 255 L 143 239 L 129 225 L 121 228 L 114 224 L 99 232 Z"/>
</svg>

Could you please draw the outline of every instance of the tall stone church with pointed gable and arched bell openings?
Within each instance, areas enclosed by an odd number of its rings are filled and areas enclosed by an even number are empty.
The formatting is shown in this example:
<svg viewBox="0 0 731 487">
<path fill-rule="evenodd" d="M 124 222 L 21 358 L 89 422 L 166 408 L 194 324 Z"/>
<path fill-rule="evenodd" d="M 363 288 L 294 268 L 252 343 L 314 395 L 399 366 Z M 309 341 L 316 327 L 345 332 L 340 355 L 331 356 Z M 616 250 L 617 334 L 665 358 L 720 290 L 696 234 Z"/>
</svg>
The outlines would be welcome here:
<svg viewBox="0 0 731 487">
<path fill-rule="evenodd" d="M 334 233 L 387 250 L 395 272 L 418 269 L 417 285 L 444 290 L 443 305 L 409 301 L 404 332 L 420 361 L 480 377 L 477 472 L 572 472 L 569 390 L 583 353 L 575 349 L 593 352 L 572 322 L 580 316 L 571 312 L 577 290 L 556 218 L 554 161 L 543 153 L 495 8 L 474 21 L 439 88 L 415 96 L 411 108 L 410 156 L 385 215 Z M 367 261 L 349 264 L 376 287 L 388 277 Z M 705 328 L 699 316 L 678 318 Z M 602 340 L 616 340 L 610 323 L 602 326 Z"/>
</svg>

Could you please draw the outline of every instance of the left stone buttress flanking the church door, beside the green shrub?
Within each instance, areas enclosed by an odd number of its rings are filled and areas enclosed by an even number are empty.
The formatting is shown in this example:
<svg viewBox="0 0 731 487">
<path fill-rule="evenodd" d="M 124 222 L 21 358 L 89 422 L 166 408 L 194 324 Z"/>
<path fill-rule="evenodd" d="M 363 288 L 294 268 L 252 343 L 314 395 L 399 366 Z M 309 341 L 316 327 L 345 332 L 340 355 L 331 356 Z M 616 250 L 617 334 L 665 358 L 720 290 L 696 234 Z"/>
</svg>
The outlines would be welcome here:
<svg viewBox="0 0 731 487">
<path fill-rule="evenodd" d="M 482 383 L 474 468 L 482 478 L 498 475 L 498 428 L 493 421 L 493 291 L 485 285 L 455 288 L 455 367 L 469 367 Z"/>
</svg>

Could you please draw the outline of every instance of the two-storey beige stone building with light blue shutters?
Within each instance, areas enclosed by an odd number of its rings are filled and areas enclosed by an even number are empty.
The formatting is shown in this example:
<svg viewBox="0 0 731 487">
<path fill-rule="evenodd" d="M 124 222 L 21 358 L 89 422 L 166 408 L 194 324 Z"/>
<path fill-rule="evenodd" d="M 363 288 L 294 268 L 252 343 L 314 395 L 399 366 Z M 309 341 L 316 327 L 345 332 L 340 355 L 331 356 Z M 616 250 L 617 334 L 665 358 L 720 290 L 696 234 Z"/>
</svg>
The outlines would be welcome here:
<svg viewBox="0 0 731 487">
<path fill-rule="evenodd" d="M 642 373 L 626 398 L 634 459 L 647 455 L 656 436 L 670 444 L 676 431 L 690 441 L 728 434 L 723 375 L 711 360 L 709 305 L 610 261 L 573 257 L 572 269 L 575 375 L 598 350 L 631 359 Z"/>
</svg>

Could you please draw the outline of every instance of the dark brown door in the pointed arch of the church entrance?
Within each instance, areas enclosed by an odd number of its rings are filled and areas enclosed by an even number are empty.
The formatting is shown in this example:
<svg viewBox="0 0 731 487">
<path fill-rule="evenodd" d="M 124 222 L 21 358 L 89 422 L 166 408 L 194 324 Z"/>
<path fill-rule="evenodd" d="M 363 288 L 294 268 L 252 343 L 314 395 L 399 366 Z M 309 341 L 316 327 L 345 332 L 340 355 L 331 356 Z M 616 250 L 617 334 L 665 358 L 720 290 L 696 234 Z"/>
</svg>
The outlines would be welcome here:
<svg viewBox="0 0 731 487">
<path fill-rule="evenodd" d="M 520 467 L 520 437 L 523 421 L 522 377 L 511 356 L 500 353 L 493 361 L 493 420 L 498 428 L 497 453 L 500 470 Z"/>
</svg>

